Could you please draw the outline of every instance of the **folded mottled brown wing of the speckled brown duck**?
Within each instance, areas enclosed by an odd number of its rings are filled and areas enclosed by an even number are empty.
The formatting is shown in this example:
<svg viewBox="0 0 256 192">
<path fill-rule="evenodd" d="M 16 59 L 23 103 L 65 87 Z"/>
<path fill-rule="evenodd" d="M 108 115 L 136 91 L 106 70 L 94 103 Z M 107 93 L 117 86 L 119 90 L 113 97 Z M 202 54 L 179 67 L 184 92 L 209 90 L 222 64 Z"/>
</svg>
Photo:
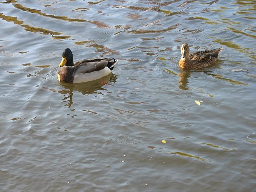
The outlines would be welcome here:
<svg viewBox="0 0 256 192">
<path fill-rule="evenodd" d="M 217 59 L 221 50 L 222 50 L 222 47 L 219 48 L 219 49 L 199 51 L 199 52 L 190 54 L 189 58 L 192 59 L 192 60 L 201 60 L 201 61 L 208 60 L 210 58 L 216 58 Z"/>
</svg>

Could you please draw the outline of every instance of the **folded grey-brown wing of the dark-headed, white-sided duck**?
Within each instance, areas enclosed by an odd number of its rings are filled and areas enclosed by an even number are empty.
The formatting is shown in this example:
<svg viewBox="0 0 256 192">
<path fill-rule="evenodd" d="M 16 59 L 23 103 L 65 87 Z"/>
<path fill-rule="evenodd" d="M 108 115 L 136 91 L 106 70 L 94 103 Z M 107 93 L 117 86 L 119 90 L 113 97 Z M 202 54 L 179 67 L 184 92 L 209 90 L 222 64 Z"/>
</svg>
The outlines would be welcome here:
<svg viewBox="0 0 256 192">
<path fill-rule="evenodd" d="M 112 66 L 112 58 L 97 58 L 97 59 L 84 59 L 74 63 L 76 73 L 91 73 L 100 71 L 108 65 Z"/>
</svg>

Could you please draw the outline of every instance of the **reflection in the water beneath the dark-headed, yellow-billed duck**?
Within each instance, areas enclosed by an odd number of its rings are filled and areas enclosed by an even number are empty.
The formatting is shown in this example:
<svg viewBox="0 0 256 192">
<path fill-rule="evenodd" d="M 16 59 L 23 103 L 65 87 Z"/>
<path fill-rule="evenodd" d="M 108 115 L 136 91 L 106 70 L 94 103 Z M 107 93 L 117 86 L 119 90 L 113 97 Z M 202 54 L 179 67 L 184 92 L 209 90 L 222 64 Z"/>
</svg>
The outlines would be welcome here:
<svg viewBox="0 0 256 192">
<path fill-rule="evenodd" d="M 100 79 L 90 81 L 90 82 L 83 82 L 83 83 L 62 83 L 60 82 L 61 86 L 65 88 L 65 90 L 58 91 L 59 93 L 63 94 L 65 97 L 62 99 L 62 102 L 65 102 L 65 106 L 71 108 L 73 104 L 73 91 L 79 91 L 83 95 L 89 94 L 101 94 L 99 91 L 106 90 L 103 88 L 105 84 L 114 85 L 116 82 L 116 75 L 111 73 L 107 76 L 104 76 Z M 68 101 L 68 103 L 67 103 Z"/>
</svg>

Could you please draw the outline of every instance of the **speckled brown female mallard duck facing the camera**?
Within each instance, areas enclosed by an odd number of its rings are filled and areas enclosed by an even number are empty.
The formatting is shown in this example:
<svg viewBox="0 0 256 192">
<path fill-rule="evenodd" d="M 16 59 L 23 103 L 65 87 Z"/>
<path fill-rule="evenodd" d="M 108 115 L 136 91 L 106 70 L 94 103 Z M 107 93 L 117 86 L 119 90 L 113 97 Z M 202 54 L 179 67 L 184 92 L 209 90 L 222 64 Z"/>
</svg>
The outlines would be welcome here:
<svg viewBox="0 0 256 192">
<path fill-rule="evenodd" d="M 180 48 L 181 59 L 179 67 L 181 69 L 199 69 L 210 67 L 217 60 L 222 47 L 219 49 L 199 51 L 189 55 L 189 47 L 186 43 L 182 44 Z"/>
</svg>

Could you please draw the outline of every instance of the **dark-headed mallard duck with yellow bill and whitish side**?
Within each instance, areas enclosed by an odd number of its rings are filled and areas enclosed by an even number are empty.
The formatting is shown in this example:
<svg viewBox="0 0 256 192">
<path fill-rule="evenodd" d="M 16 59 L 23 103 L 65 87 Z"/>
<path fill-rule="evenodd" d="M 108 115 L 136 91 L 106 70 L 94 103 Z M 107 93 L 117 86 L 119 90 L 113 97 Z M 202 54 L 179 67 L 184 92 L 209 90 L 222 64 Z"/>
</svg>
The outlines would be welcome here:
<svg viewBox="0 0 256 192">
<path fill-rule="evenodd" d="M 58 72 L 60 82 L 88 82 L 109 75 L 117 60 L 114 58 L 85 59 L 74 63 L 72 51 L 67 48 L 62 53 Z"/>
</svg>

